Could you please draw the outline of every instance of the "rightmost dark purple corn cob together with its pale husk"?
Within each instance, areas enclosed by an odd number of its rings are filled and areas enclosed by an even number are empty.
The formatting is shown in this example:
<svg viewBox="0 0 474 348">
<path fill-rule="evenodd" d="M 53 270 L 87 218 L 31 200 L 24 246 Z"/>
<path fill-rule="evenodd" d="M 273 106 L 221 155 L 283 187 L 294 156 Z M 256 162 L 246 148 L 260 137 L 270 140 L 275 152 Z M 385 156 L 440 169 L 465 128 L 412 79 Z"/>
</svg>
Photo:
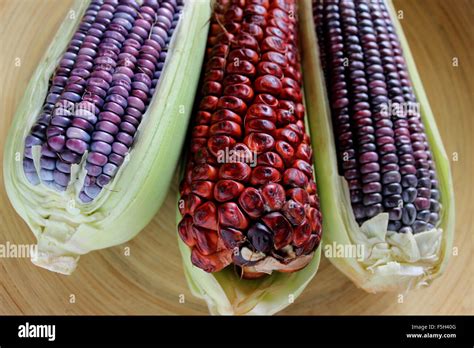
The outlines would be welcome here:
<svg viewBox="0 0 474 348">
<path fill-rule="evenodd" d="M 303 11 L 325 243 L 364 249 L 330 260 L 370 292 L 427 285 L 452 244 L 452 183 L 401 29 L 382 0 Z"/>
</svg>

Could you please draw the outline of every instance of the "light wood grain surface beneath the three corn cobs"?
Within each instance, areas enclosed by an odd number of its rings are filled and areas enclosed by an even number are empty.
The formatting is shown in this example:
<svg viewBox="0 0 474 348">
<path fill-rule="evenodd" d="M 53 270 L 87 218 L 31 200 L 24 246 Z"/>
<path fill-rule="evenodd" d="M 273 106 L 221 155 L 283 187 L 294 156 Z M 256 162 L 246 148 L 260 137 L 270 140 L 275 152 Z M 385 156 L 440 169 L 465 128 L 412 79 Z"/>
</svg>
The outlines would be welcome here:
<svg viewBox="0 0 474 348">
<path fill-rule="evenodd" d="M 69 0 L 0 0 L 0 163 L 17 104 L 70 4 Z M 359 290 L 323 258 L 311 284 L 282 314 L 474 313 L 474 2 L 398 0 L 395 5 L 403 11 L 401 23 L 446 151 L 458 156 L 452 161 L 458 255 L 430 288 L 410 292 L 403 303 L 397 293 Z M 453 58 L 459 60 L 457 67 Z M 3 171 L 0 176 L 0 243 L 34 243 L 9 203 Z M 174 180 L 161 210 L 134 240 L 83 256 L 71 276 L 37 268 L 29 259 L 0 259 L 0 314 L 206 314 L 205 304 L 188 290 L 181 267 L 176 188 Z M 125 247 L 130 256 L 124 256 Z"/>
</svg>

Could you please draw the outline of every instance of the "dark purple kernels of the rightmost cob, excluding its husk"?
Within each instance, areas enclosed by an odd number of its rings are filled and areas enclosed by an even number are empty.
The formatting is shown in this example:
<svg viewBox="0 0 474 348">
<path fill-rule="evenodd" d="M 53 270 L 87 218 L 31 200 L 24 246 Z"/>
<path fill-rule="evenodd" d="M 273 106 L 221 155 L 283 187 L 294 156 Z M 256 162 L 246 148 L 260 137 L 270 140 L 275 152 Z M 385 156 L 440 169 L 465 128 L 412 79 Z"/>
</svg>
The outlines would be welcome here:
<svg viewBox="0 0 474 348">
<path fill-rule="evenodd" d="M 418 233 L 439 220 L 435 167 L 401 46 L 383 1 L 313 1 L 339 171 L 359 224 Z"/>
</svg>

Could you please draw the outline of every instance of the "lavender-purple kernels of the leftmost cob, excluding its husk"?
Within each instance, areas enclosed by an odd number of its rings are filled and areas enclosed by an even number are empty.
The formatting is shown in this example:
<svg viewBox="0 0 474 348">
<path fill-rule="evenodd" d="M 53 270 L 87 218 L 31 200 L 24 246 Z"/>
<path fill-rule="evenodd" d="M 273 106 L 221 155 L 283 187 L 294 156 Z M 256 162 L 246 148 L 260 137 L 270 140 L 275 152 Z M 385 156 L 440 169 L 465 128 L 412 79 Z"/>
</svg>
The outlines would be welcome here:
<svg viewBox="0 0 474 348">
<path fill-rule="evenodd" d="M 110 182 L 153 96 L 182 6 L 176 0 L 91 2 L 25 141 L 24 171 L 32 184 L 65 190 L 71 165 L 83 159 L 83 202 Z M 33 145 L 42 146 L 40 178 Z"/>
</svg>

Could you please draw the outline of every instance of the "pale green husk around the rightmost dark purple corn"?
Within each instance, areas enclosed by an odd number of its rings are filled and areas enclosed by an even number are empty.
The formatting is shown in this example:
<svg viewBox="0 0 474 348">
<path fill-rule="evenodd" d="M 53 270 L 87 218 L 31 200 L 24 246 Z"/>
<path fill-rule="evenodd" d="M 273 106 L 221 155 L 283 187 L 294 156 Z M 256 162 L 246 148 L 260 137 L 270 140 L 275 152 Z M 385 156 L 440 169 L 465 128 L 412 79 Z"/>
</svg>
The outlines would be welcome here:
<svg viewBox="0 0 474 348">
<path fill-rule="evenodd" d="M 304 32 L 303 76 L 315 152 L 316 177 L 323 213 L 323 247 L 329 260 L 358 287 L 368 292 L 406 291 L 429 285 L 446 268 L 454 237 L 454 195 L 449 159 L 435 118 L 408 47 L 390 3 L 392 19 L 400 37 L 414 90 L 421 104 L 421 117 L 431 145 L 441 192 L 442 211 L 437 228 L 419 233 L 387 231 L 388 214 L 383 213 L 358 226 L 352 213 L 346 180 L 338 175 L 324 76 L 312 18 L 311 1 L 300 11 Z M 330 248 L 362 246 L 363 257 L 329 255 Z"/>
</svg>

